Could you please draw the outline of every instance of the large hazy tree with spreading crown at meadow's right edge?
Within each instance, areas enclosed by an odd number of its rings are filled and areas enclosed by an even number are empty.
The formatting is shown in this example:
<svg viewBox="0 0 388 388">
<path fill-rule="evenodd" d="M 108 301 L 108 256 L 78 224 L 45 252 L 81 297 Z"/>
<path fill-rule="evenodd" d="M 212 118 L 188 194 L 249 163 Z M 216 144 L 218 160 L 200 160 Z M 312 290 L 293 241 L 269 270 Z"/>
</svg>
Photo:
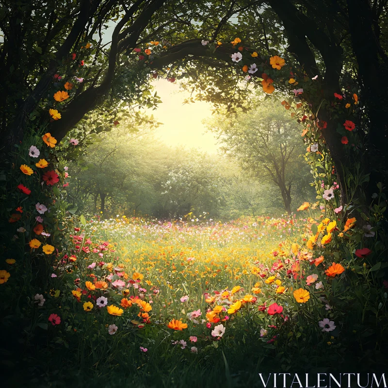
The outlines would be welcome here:
<svg viewBox="0 0 388 388">
<path fill-rule="evenodd" d="M 224 151 L 237 158 L 252 178 L 277 186 L 285 210 L 291 213 L 293 185 L 302 190 L 309 173 L 308 166 L 299 158 L 306 152 L 301 128 L 284 108 L 280 104 L 260 104 L 236 117 L 220 115 L 209 128 L 218 134 Z"/>
</svg>

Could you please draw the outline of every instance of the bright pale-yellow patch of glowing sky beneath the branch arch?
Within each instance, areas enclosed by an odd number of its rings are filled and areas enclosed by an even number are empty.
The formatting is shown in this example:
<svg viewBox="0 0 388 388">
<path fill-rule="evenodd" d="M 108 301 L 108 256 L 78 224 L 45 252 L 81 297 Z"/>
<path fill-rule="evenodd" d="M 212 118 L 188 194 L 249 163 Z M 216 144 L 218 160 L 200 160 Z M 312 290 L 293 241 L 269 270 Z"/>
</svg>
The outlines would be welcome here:
<svg viewBox="0 0 388 388">
<path fill-rule="evenodd" d="M 177 83 L 157 80 L 153 85 L 162 100 L 158 109 L 147 111 L 163 123 L 155 129 L 156 137 L 168 146 L 199 148 L 204 152 L 216 153 L 219 148 L 216 138 L 211 132 L 206 132 L 202 123 L 202 120 L 211 117 L 211 105 L 203 101 L 182 105 L 190 93 L 182 91 Z"/>
</svg>

